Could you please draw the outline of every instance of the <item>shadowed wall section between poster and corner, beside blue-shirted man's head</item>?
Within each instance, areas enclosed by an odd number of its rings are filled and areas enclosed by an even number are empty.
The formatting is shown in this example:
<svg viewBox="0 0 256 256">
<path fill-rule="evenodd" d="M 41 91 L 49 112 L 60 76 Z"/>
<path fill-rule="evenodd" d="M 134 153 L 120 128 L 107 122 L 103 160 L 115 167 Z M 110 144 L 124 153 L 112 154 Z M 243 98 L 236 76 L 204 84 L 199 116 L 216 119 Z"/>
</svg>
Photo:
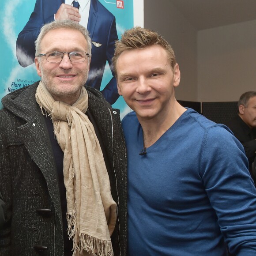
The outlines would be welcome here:
<svg viewBox="0 0 256 256">
<path fill-rule="evenodd" d="M 174 49 L 181 70 L 176 98 L 197 101 L 196 29 L 169 0 L 144 0 L 144 27 L 157 31 Z"/>
</svg>

